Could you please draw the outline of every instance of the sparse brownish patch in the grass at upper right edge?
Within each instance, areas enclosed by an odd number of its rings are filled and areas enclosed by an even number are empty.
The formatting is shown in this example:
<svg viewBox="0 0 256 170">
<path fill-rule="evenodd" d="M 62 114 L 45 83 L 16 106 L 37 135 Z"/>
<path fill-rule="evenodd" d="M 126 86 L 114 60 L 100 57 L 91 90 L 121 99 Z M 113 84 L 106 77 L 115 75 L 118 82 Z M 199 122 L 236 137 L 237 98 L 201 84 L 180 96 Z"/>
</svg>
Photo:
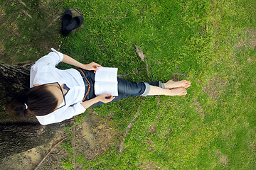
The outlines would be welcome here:
<svg viewBox="0 0 256 170">
<path fill-rule="evenodd" d="M 256 28 L 249 28 L 243 32 L 241 36 L 238 36 L 238 42 L 235 43 L 235 49 L 240 47 L 250 47 L 255 49 L 256 47 Z"/>
</svg>

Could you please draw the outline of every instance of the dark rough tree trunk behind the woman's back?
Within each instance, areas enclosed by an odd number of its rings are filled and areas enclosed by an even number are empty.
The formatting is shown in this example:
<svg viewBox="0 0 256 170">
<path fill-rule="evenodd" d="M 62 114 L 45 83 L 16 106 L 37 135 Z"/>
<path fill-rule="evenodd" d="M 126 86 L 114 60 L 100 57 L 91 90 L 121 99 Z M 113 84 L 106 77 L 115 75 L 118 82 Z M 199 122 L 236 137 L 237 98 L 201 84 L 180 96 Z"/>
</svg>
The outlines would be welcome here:
<svg viewBox="0 0 256 170">
<path fill-rule="evenodd" d="M 43 126 L 33 116 L 21 119 L 6 112 L 8 104 L 29 89 L 30 67 L 0 64 L 0 159 L 47 144 L 55 130 L 70 122 Z"/>
</svg>

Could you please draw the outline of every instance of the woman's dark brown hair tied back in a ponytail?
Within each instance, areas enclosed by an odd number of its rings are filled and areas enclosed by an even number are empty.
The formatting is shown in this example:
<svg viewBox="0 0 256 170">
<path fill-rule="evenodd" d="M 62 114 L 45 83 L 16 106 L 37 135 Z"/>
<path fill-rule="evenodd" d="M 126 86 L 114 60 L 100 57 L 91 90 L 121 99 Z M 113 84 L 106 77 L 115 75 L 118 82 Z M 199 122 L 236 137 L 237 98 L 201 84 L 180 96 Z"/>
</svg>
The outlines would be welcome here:
<svg viewBox="0 0 256 170">
<path fill-rule="evenodd" d="M 58 100 L 48 91 L 47 86 L 36 86 L 26 94 L 18 97 L 9 107 L 9 113 L 24 117 L 32 115 L 48 115 L 57 108 Z"/>
</svg>

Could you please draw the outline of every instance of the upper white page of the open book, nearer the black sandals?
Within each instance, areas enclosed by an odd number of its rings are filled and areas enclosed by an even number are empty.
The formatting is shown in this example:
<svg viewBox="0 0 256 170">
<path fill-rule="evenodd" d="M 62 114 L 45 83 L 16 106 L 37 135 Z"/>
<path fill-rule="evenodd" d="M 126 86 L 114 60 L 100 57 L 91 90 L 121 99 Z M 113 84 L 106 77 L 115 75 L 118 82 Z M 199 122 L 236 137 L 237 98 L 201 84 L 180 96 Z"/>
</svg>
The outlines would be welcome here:
<svg viewBox="0 0 256 170">
<path fill-rule="evenodd" d="M 97 67 L 99 69 L 95 74 L 95 81 L 117 81 L 117 68 Z"/>
</svg>

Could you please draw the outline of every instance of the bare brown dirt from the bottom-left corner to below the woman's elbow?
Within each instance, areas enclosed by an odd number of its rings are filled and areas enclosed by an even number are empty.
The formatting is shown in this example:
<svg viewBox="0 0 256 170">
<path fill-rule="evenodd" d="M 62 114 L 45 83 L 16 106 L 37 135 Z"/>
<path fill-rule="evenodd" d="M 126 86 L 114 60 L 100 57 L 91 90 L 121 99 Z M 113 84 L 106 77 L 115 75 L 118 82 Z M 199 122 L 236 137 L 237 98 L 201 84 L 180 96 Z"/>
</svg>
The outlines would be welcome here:
<svg viewBox="0 0 256 170">
<path fill-rule="evenodd" d="M 75 169 L 82 169 L 78 157 L 85 161 L 94 159 L 115 145 L 117 130 L 112 128 L 111 123 L 112 120 L 109 118 L 100 118 L 91 110 L 82 118 L 81 123 L 75 125 L 71 140 L 68 139 L 70 135 L 65 134 L 64 130 L 58 131 L 49 145 L 4 158 L 0 162 L 0 169 L 35 169 L 50 149 L 64 138 L 65 140 L 54 147 L 38 169 L 64 169 L 63 162 L 68 162 L 71 168 L 75 164 Z M 65 149 L 67 146 L 70 149 Z M 73 159 L 77 162 L 73 162 Z"/>
</svg>

